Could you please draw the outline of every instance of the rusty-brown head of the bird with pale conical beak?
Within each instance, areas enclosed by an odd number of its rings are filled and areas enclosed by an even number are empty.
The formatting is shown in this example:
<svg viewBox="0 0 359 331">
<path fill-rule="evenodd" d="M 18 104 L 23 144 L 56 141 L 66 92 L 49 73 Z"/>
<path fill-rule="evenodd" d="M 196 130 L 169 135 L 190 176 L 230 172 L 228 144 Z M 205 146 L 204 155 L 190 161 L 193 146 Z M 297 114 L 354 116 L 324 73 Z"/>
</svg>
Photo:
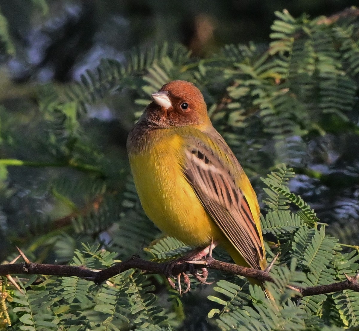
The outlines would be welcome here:
<svg viewBox="0 0 359 331">
<path fill-rule="evenodd" d="M 210 124 L 206 103 L 201 91 L 192 83 L 172 81 L 152 94 L 144 116 L 162 128 L 173 126 L 196 126 Z"/>
</svg>

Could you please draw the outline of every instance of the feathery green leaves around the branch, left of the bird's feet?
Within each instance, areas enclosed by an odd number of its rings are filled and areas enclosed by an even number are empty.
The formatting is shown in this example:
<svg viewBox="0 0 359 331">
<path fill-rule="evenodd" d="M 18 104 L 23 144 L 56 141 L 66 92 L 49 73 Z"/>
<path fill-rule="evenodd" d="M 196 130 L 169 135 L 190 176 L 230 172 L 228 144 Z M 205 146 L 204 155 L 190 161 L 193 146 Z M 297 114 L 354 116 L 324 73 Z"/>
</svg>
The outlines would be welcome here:
<svg viewBox="0 0 359 331">
<path fill-rule="evenodd" d="M 115 255 L 84 245 L 82 252 L 76 251 L 73 264 L 108 267 L 114 263 Z M 23 286 L 23 293 L 14 293 L 19 330 L 58 330 L 59 327 L 65 330 L 134 327 L 161 330 L 161 326 L 168 326 L 164 308 L 151 293 L 154 287 L 149 276 L 135 270 L 128 270 L 102 286 L 75 277 L 49 277 L 41 285 L 31 289 L 30 286 L 31 282 Z M 39 291 L 44 287 L 46 291 Z"/>
</svg>

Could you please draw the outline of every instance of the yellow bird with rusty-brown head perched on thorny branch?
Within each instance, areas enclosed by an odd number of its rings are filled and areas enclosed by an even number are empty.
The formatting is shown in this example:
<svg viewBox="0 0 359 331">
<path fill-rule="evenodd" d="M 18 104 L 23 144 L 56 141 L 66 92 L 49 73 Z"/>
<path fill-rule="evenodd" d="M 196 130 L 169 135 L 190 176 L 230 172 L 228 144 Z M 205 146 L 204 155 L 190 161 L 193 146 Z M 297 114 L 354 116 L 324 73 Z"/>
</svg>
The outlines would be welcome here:
<svg viewBox="0 0 359 331">
<path fill-rule="evenodd" d="M 201 91 L 175 80 L 151 96 L 126 144 L 146 215 L 187 245 L 219 243 L 236 264 L 265 270 L 256 193 L 213 127 Z"/>
</svg>

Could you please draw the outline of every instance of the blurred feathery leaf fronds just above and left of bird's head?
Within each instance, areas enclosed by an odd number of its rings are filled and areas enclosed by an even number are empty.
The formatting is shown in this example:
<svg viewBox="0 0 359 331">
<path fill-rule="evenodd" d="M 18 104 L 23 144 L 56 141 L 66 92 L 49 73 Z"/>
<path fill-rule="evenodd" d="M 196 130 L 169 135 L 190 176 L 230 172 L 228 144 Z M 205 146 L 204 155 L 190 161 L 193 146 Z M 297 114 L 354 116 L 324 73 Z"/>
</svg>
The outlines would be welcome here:
<svg viewBox="0 0 359 331">
<path fill-rule="evenodd" d="M 105 95 L 123 87 L 141 88 L 136 77 L 145 75 L 143 86 L 146 94 L 157 91 L 165 82 L 176 78 L 174 72 L 189 61 L 190 53 L 182 45 L 155 45 L 147 49 L 134 49 L 127 56 L 126 63 L 103 59 L 94 73 L 87 71 L 81 76 L 81 83 L 71 85 L 65 92 L 68 101 L 84 104 L 93 103 Z M 171 79 L 172 78 L 172 79 Z"/>
</svg>

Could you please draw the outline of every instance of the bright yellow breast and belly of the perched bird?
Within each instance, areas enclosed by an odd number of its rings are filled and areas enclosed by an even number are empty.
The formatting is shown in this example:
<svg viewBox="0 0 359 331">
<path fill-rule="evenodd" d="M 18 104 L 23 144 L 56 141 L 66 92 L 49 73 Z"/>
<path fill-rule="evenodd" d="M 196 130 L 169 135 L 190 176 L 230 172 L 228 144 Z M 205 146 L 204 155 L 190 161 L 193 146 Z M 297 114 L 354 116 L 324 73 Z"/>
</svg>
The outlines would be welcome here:
<svg viewBox="0 0 359 331">
<path fill-rule="evenodd" d="M 167 141 L 169 140 L 169 141 Z M 177 135 L 129 155 L 132 174 L 146 215 L 163 232 L 188 245 L 205 246 L 224 235 L 207 214 L 182 165 L 183 141 Z"/>
</svg>

